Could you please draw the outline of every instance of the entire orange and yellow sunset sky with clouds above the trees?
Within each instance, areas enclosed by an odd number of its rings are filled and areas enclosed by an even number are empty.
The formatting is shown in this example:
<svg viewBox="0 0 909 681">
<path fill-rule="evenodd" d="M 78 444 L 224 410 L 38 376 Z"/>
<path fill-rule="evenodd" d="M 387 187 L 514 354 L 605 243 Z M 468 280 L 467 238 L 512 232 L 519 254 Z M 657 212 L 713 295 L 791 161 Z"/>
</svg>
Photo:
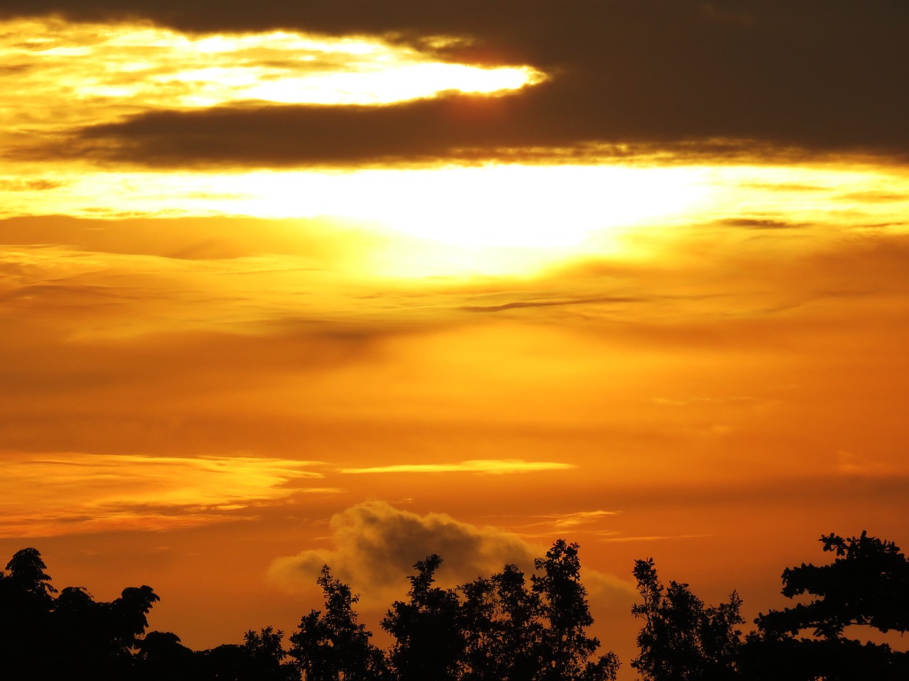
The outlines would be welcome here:
<svg viewBox="0 0 909 681">
<path fill-rule="evenodd" d="M 2 0 L 0 548 L 187 646 L 581 544 L 909 548 L 904 0 Z M 2 565 L 0 565 L 2 567 Z M 381 639 L 380 639 L 381 642 Z"/>
</svg>

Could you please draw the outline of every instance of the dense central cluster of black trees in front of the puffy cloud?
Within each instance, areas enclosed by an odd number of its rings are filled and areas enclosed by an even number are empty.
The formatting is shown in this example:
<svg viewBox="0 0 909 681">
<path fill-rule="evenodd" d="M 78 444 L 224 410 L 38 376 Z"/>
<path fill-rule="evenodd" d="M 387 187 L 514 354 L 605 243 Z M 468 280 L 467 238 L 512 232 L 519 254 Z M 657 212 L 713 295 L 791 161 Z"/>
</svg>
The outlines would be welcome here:
<svg viewBox="0 0 909 681">
<path fill-rule="evenodd" d="M 609 681 L 618 660 L 594 659 L 593 617 L 581 583 L 577 544 L 558 540 L 534 561 L 537 574 L 506 565 L 454 589 L 434 587 L 437 555 L 418 561 L 409 600 L 382 626 L 395 637 L 390 673 L 401 681 Z M 463 599 L 459 597 L 463 595 Z"/>
</svg>

